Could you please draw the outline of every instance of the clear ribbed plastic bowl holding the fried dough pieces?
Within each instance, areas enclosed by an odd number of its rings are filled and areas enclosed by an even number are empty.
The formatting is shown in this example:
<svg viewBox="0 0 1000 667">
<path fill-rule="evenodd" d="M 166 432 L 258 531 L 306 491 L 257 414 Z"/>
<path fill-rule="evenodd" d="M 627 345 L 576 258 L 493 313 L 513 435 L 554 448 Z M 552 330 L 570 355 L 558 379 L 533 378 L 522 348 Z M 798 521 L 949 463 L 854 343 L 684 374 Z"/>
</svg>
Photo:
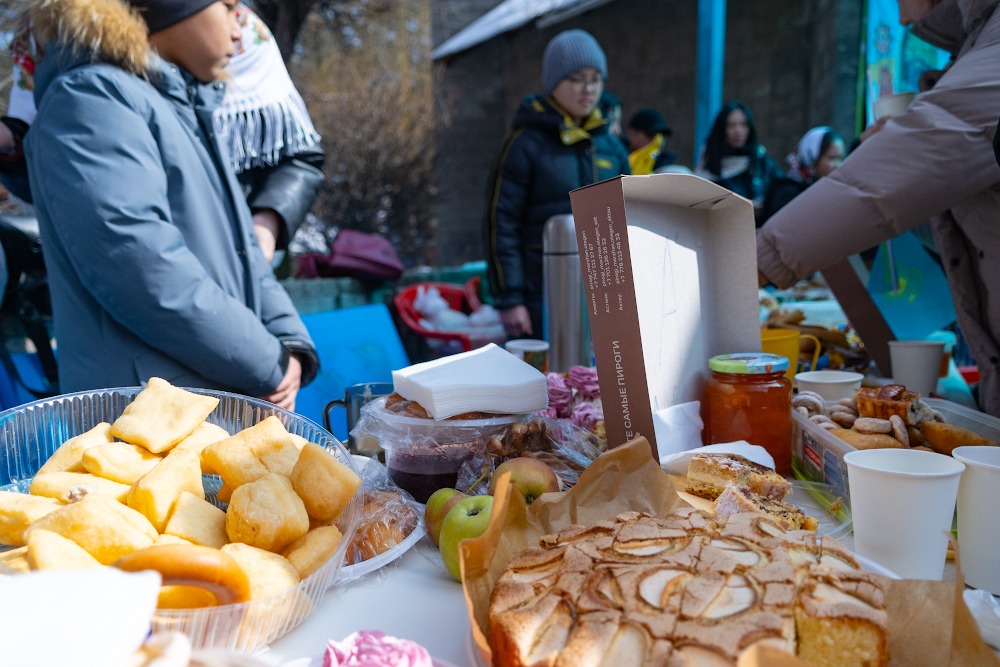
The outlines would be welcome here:
<svg viewBox="0 0 1000 667">
<path fill-rule="evenodd" d="M 26 492 L 42 464 L 63 442 L 100 422 L 113 422 L 142 387 L 122 387 L 65 394 L 0 412 L 0 489 Z M 205 389 L 188 389 L 215 396 L 219 405 L 208 421 L 230 433 L 276 415 L 289 433 L 327 449 L 355 472 L 357 465 L 341 443 L 318 424 L 267 401 Z M 220 480 L 205 475 L 206 497 L 215 498 Z M 252 651 L 281 637 L 304 621 L 320 604 L 344 560 L 344 551 L 361 515 L 360 494 L 336 520 L 343 538 L 325 565 L 287 591 L 238 604 L 200 609 L 157 609 L 153 632 L 175 630 L 196 649 Z M 0 549 L 4 547 L 0 546 Z"/>
</svg>

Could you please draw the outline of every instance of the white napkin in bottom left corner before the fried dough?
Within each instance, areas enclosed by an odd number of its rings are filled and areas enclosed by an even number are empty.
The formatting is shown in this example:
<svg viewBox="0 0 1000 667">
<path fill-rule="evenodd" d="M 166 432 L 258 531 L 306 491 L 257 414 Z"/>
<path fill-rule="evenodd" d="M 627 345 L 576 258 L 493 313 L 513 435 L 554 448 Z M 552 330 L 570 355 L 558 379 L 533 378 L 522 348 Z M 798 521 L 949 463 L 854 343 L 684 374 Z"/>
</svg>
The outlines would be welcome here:
<svg viewBox="0 0 1000 667">
<path fill-rule="evenodd" d="M 127 667 L 159 592 L 158 573 L 113 567 L 0 577 L 3 663 Z"/>
</svg>

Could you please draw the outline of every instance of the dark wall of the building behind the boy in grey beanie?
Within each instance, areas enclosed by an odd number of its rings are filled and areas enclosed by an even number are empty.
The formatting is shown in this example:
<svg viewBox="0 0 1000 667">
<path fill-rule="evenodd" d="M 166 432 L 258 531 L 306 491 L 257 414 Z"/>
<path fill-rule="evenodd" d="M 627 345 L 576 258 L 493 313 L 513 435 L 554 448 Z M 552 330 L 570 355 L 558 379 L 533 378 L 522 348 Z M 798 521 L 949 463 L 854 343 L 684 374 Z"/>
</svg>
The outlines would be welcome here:
<svg viewBox="0 0 1000 667">
<path fill-rule="evenodd" d="M 435 0 L 434 43 L 494 4 Z M 750 107 L 761 141 L 779 161 L 814 125 L 833 125 L 848 143 L 854 137 L 859 5 L 728 3 L 723 98 Z M 659 108 L 673 128 L 678 162 L 692 166 L 703 139 L 693 136 L 697 13 L 697 0 L 617 0 L 544 29 L 528 24 L 437 62 L 439 263 L 482 258 L 495 151 L 520 98 L 539 87 L 545 44 L 562 30 L 583 28 L 598 39 L 608 56 L 607 89 L 622 99 L 625 119 L 642 107 Z"/>
</svg>

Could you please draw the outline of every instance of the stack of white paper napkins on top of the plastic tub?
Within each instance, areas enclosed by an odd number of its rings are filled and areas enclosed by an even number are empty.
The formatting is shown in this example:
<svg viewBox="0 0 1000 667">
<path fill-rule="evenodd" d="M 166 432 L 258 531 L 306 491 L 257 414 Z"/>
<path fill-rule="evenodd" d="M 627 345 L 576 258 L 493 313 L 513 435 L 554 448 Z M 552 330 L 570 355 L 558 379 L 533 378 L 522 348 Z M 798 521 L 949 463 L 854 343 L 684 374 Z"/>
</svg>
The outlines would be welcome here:
<svg viewBox="0 0 1000 667">
<path fill-rule="evenodd" d="M 549 405 L 545 375 L 493 343 L 393 371 L 392 383 L 434 419 L 463 412 L 520 414 Z"/>
</svg>

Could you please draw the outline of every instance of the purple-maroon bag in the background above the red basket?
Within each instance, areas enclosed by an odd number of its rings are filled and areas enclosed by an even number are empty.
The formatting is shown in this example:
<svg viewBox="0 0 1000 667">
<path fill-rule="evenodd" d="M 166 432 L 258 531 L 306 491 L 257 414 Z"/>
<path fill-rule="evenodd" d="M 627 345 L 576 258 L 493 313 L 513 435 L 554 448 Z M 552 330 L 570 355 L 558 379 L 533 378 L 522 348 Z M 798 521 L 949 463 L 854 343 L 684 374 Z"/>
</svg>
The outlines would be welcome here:
<svg viewBox="0 0 1000 667">
<path fill-rule="evenodd" d="M 403 275 L 403 263 L 384 237 L 342 229 L 333 240 L 329 255 L 308 253 L 299 258 L 298 275 L 304 278 L 397 280 Z"/>
</svg>

